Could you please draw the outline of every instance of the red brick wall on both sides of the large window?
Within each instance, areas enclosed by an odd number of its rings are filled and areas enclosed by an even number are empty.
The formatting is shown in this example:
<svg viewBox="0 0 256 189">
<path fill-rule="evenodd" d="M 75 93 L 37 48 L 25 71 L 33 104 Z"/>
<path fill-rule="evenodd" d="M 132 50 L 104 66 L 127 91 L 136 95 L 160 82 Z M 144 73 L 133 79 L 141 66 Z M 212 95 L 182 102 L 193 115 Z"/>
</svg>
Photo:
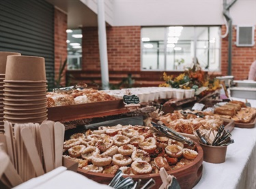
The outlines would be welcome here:
<svg viewBox="0 0 256 189">
<path fill-rule="evenodd" d="M 222 27 L 225 33 L 225 26 Z M 107 27 L 107 48 L 109 70 L 139 71 L 141 68 L 141 27 Z M 233 29 L 232 75 L 235 80 L 248 77 L 251 63 L 256 59 L 256 46 L 237 47 L 236 29 Z M 255 32 L 256 41 L 256 32 Z M 221 43 L 221 73 L 227 75 L 228 37 Z M 83 69 L 100 70 L 100 54 L 98 47 L 98 28 L 83 28 Z"/>
</svg>

